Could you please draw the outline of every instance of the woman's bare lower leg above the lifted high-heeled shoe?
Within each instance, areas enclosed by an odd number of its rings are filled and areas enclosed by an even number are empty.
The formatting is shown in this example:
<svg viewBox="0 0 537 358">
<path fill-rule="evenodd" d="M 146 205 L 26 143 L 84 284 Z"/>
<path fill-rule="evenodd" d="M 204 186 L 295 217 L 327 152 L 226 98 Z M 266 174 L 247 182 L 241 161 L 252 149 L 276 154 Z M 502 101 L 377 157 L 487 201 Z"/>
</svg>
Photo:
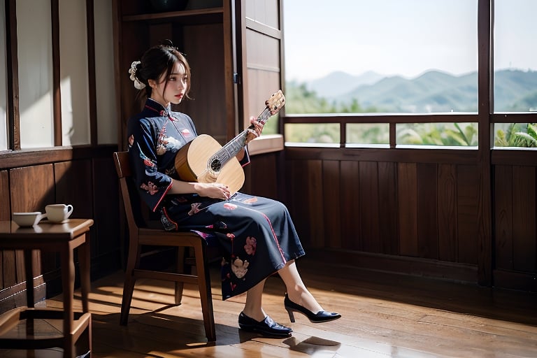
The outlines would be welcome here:
<svg viewBox="0 0 537 358">
<path fill-rule="evenodd" d="M 313 313 L 317 313 L 322 309 L 315 297 L 308 291 L 299 270 L 296 268 L 294 260 L 291 260 L 278 271 L 278 275 L 282 278 L 287 288 L 289 299 L 300 306 L 307 308 Z"/>
</svg>

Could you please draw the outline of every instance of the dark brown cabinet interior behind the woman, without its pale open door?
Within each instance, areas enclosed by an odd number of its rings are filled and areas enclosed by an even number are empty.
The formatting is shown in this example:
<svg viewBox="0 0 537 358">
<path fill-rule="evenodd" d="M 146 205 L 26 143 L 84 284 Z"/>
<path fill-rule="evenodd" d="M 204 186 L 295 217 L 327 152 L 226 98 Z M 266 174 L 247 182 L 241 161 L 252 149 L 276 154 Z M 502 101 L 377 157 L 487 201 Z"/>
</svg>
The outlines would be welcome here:
<svg viewBox="0 0 537 358">
<path fill-rule="evenodd" d="M 147 0 L 115 1 L 120 147 L 126 148 L 128 118 L 141 109 L 141 101 L 136 100 L 138 90 L 129 79 L 131 63 L 166 39 L 186 55 L 192 66 L 192 100 L 184 101 L 176 110 L 189 114 L 199 133 L 210 134 L 220 142 L 231 137 L 236 131 L 231 3 L 166 13 L 153 12 L 149 4 Z"/>
</svg>

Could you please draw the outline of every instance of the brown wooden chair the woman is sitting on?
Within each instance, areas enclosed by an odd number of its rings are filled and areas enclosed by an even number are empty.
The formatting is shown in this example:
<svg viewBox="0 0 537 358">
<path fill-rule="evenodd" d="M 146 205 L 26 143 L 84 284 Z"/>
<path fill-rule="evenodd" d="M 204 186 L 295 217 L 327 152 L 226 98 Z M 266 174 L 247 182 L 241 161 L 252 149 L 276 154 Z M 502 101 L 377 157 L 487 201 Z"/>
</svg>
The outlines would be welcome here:
<svg viewBox="0 0 537 358">
<path fill-rule="evenodd" d="M 192 232 L 166 231 L 164 229 L 144 227 L 141 220 L 139 220 L 138 217 L 135 217 L 131 203 L 131 193 L 134 201 L 134 194 L 136 194 L 136 191 L 133 190 L 134 188 L 132 188 L 132 183 L 129 180 L 129 177 L 131 176 L 129 156 L 127 152 L 115 152 L 113 157 L 117 176 L 120 179 L 120 189 L 129 227 L 129 254 L 127 257 L 127 268 L 123 286 L 120 324 L 127 324 L 136 279 L 151 278 L 176 282 L 175 302 L 178 305 L 181 303 L 182 299 L 183 284 L 187 282 L 198 285 L 199 287 L 205 334 L 208 341 L 216 341 L 213 299 L 210 292 L 209 272 L 206 268 L 206 241 L 201 238 L 201 236 Z M 175 273 L 170 273 L 142 269 L 140 261 L 142 255 L 141 248 L 143 245 L 178 248 L 177 271 Z M 194 250 L 197 275 L 184 273 L 185 248 L 193 248 Z"/>
</svg>

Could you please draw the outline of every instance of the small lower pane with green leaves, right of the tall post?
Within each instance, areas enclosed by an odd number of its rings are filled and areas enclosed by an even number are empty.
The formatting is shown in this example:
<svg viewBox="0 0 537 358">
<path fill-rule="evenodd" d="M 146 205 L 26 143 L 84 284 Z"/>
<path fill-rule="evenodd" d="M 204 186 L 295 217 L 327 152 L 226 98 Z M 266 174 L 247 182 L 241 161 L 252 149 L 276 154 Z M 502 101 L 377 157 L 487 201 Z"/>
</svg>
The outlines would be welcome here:
<svg viewBox="0 0 537 358">
<path fill-rule="evenodd" d="M 537 123 L 494 124 L 494 147 L 537 148 Z"/>
</svg>

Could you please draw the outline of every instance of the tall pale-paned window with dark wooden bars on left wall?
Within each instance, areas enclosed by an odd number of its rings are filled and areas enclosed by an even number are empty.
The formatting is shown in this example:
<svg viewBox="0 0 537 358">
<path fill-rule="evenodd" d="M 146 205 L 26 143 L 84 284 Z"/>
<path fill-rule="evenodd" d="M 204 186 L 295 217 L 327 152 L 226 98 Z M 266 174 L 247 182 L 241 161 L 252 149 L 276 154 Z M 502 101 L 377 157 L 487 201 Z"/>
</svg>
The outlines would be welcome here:
<svg viewBox="0 0 537 358">
<path fill-rule="evenodd" d="M 96 38 L 101 39 L 92 48 L 99 57 L 95 78 L 102 88 L 96 103 L 90 103 L 92 74 L 86 3 L 71 0 L 59 0 L 57 6 L 50 0 L 14 3 L 16 34 L 6 29 L 6 7 L 0 6 L 0 151 L 87 145 L 92 141 L 93 144 L 115 143 L 116 123 L 110 120 L 116 116 L 114 81 L 110 80 L 113 78 L 113 36 L 110 36 L 113 4 L 96 1 L 91 16 L 96 21 Z M 58 13 L 53 13 L 56 10 Z M 56 25 L 59 31 L 53 33 Z M 16 36 L 15 54 L 8 48 L 9 36 Z M 55 41 L 57 46 L 53 48 Z M 17 69 L 13 76 L 13 98 L 8 97 L 8 58 L 14 59 L 13 66 Z M 8 113 L 11 103 L 15 108 L 12 114 Z M 90 105 L 99 106 L 94 121 L 90 118 Z M 8 114 L 13 115 L 13 124 L 8 123 Z M 92 138 L 94 122 L 99 123 L 96 138 Z"/>
</svg>

